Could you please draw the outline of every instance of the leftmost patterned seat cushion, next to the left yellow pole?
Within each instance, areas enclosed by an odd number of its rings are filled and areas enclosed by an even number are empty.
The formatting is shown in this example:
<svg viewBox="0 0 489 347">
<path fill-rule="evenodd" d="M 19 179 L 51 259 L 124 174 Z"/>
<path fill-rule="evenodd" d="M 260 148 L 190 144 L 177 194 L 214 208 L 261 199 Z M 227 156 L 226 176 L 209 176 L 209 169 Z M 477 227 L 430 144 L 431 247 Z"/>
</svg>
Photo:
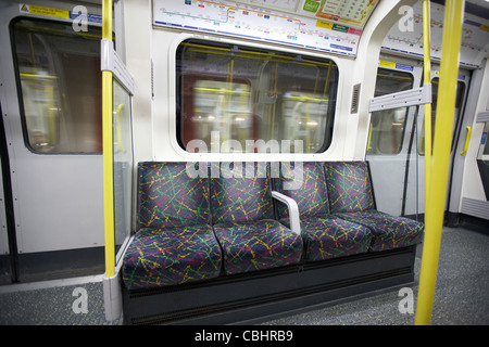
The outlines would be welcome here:
<svg viewBox="0 0 489 347">
<path fill-rule="evenodd" d="M 174 230 L 142 229 L 122 267 L 127 288 L 151 288 L 218 277 L 221 248 L 208 224 Z"/>
</svg>

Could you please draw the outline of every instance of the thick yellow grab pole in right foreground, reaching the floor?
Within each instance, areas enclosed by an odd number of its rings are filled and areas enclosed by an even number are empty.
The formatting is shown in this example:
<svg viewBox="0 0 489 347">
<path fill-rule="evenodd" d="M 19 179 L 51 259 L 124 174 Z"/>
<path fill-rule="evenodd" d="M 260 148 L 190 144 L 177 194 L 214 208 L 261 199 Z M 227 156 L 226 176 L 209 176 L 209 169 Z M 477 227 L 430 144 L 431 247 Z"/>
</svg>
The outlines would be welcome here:
<svg viewBox="0 0 489 347">
<path fill-rule="evenodd" d="M 464 4 L 465 1 L 461 0 L 447 0 L 444 2 L 440 83 L 437 103 L 438 121 L 435 128 L 428 204 L 425 207 L 425 240 L 417 295 L 416 325 L 431 323 L 438 257 L 440 254 L 441 228 L 443 226 L 447 197 Z"/>
</svg>

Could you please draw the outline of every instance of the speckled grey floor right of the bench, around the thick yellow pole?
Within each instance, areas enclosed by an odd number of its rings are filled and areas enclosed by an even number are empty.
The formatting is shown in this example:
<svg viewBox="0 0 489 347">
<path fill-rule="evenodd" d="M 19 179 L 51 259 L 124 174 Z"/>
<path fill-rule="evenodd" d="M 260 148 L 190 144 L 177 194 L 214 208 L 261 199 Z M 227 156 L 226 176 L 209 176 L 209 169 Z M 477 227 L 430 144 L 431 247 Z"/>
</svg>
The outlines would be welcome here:
<svg viewBox="0 0 489 347">
<path fill-rule="evenodd" d="M 418 249 L 422 254 L 422 249 Z M 416 308 L 421 258 L 416 257 L 411 286 Z M 264 322 L 267 325 L 412 325 L 414 313 L 397 288 L 380 295 Z M 405 305 L 404 305 L 405 304 Z M 403 309 L 405 311 L 405 309 Z M 432 325 L 489 324 L 489 234 L 443 228 Z"/>
</svg>

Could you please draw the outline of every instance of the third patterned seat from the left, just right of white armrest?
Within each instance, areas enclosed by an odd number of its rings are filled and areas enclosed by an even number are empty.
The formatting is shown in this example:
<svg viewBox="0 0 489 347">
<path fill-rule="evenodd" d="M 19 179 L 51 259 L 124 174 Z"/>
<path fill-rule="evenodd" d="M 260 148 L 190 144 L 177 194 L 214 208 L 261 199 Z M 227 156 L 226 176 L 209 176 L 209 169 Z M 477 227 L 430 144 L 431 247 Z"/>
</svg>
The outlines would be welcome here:
<svg viewBox="0 0 489 347">
<path fill-rule="evenodd" d="M 296 163 L 294 170 L 302 170 L 302 184 L 296 190 L 284 189 L 292 179 L 287 172 L 280 172 L 276 180 L 278 192 L 292 197 L 299 207 L 301 235 L 304 241 L 304 259 L 324 260 L 368 249 L 371 231 L 360 224 L 330 216 L 328 192 L 321 163 Z M 278 205 L 280 222 L 289 226 L 285 205 Z"/>
</svg>

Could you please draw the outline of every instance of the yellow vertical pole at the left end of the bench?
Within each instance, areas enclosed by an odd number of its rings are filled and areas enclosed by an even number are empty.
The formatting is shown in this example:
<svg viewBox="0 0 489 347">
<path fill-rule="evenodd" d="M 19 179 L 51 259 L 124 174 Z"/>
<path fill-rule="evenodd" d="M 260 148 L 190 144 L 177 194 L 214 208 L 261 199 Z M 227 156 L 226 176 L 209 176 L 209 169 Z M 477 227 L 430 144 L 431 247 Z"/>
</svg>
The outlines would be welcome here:
<svg viewBox="0 0 489 347">
<path fill-rule="evenodd" d="M 102 3 L 102 39 L 112 40 L 112 0 Z M 102 72 L 103 210 L 105 277 L 115 274 L 112 72 Z"/>
</svg>

